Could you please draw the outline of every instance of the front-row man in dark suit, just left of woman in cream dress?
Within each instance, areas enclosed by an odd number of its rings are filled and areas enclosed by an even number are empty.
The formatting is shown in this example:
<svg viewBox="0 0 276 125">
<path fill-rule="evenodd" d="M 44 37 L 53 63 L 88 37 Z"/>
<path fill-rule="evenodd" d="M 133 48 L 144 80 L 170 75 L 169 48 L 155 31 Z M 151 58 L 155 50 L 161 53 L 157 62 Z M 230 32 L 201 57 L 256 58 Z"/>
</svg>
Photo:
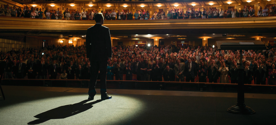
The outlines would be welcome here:
<svg viewBox="0 0 276 125">
<path fill-rule="evenodd" d="M 209 79 L 209 83 L 217 83 L 217 79 L 218 79 L 218 76 L 217 76 L 217 65 L 215 64 L 215 60 L 214 59 L 211 59 L 211 64 L 210 66 L 208 67 L 208 79 Z"/>
</svg>

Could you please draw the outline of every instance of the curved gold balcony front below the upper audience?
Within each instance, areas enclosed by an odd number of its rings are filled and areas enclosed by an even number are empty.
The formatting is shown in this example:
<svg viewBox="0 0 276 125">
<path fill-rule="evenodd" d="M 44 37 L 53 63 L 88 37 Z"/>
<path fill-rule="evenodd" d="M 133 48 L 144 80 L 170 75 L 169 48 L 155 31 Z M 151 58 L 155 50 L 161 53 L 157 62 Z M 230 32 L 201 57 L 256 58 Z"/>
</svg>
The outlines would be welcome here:
<svg viewBox="0 0 276 125">
<path fill-rule="evenodd" d="M 84 31 L 94 24 L 94 20 L 0 18 L 1 30 Z M 109 27 L 110 30 L 275 28 L 276 16 L 217 19 L 106 20 L 104 25 Z"/>
</svg>

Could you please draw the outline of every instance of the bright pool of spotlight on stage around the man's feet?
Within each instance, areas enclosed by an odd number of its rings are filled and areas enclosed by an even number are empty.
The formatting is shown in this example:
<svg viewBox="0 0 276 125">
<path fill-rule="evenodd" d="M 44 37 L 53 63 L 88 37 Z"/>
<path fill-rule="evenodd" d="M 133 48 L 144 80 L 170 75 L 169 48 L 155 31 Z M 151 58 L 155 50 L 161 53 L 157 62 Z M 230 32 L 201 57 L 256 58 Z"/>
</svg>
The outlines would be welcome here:
<svg viewBox="0 0 276 125">
<path fill-rule="evenodd" d="M 99 90 L 97 90 L 99 91 Z M 109 93 L 110 94 L 110 93 Z M 109 95 L 108 94 L 108 95 Z M 112 95 L 112 94 L 111 94 Z M 1 116 L 22 118 L 20 120 L 1 119 L 1 123 L 9 124 L 72 124 L 83 125 L 84 121 L 102 125 L 127 124 L 137 114 L 142 114 L 144 102 L 123 95 L 112 95 L 112 99 L 100 100 L 96 94 L 94 100 L 86 101 L 88 94 L 63 94 L 59 97 L 33 99 L 7 107 L 1 107 Z M 47 105 L 47 106 L 46 106 Z M 110 108 L 112 105 L 112 108 Z M 112 120 L 106 120 L 108 119 Z M 1 117 L 3 118 L 3 117 Z"/>
</svg>

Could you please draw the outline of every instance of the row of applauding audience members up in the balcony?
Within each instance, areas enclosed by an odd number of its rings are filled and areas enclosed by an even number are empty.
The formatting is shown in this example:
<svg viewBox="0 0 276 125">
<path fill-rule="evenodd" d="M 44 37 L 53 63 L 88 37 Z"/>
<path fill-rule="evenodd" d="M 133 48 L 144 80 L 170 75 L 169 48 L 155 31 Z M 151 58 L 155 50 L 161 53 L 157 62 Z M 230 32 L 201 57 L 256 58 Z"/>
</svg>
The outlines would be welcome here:
<svg viewBox="0 0 276 125">
<path fill-rule="evenodd" d="M 101 11 L 105 20 L 156 20 L 156 19 L 188 19 L 188 18 L 236 18 L 236 17 L 267 17 L 267 16 L 275 16 L 276 14 L 276 6 L 268 7 L 267 5 L 262 9 L 259 8 L 257 15 L 255 15 L 255 9 L 253 7 L 245 6 L 243 10 L 237 10 L 229 8 L 228 10 L 222 9 L 212 9 L 209 10 L 200 8 L 195 10 L 194 8 L 188 8 L 187 11 L 183 11 L 183 9 L 176 7 L 172 7 L 168 11 L 168 14 L 165 14 L 164 11 L 154 12 L 151 16 L 146 10 L 136 10 L 134 14 L 131 11 L 127 10 L 115 10 L 110 11 Z M 46 7 L 46 10 L 42 12 L 41 8 L 36 7 L 24 7 L 22 10 L 20 7 L 16 8 L 15 6 L 6 6 L 1 5 L 0 15 L 9 16 L 9 17 L 26 17 L 26 18 L 46 18 L 46 19 L 65 19 L 65 20 L 94 20 L 94 15 L 97 13 L 97 10 L 91 10 L 88 12 L 83 9 L 82 11 L 71 11 L 67 8 L 63 13 L 59 10 L 50 10 Z"/>
</svg>

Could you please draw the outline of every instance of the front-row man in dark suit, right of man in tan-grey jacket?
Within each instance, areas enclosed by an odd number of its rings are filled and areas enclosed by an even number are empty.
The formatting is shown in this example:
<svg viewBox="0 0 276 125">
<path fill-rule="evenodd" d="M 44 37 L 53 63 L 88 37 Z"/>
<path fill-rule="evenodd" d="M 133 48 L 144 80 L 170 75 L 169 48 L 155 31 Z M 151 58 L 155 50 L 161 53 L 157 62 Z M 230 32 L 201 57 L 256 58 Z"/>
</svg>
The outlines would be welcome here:
<svg viewBox="0 0 276 125">
<path fill-rule="evenodd" d="M 192 58 L 188 58 L 188 63 L 184 68 L 184 79 L 186 82 L 195 82 L 195 76 L 197 75 L 197 67 L 194 63 L 192 63 Z"/>
</svg>

